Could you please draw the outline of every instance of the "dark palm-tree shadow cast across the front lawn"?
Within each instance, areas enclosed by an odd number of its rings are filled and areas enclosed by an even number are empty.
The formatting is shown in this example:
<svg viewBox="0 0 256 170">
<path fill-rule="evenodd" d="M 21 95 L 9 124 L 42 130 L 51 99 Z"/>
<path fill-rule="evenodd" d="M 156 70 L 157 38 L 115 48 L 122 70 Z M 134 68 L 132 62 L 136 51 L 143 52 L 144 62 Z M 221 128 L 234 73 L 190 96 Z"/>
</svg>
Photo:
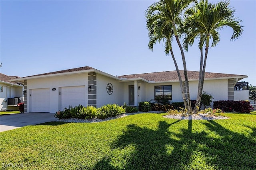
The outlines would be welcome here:
<svg viewBox="0 0 256 170">
<path fill-rule="evenodd" d="M 97 162 L 94 169 L 253 169 L 256 167 L 256 142 L 243 134 L 225 129 L 215 121 L 200 122 L 208 131 L 174 131 L 175 123 L 160 121 L 158 129 L 131 124 L 112 143 L 112 152 Z M 183 120 L 184 121 L 184 120 Z M 194 127 L 196 128 L 196 127 Z"/>
</svg>

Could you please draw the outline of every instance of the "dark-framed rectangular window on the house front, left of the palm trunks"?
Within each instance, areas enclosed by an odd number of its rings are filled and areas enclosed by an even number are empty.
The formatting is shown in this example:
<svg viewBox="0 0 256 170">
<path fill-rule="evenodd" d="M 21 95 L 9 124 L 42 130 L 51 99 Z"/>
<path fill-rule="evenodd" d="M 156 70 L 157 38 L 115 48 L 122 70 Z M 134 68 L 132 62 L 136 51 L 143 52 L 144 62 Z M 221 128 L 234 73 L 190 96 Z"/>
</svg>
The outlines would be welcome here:
<svg viewBox="0 0 256 170">
<path fill-rule="evenodd" d="M 155 86 L 155 100 L 164 98 L 172 100 L 172 85 Z"/>
</svg>

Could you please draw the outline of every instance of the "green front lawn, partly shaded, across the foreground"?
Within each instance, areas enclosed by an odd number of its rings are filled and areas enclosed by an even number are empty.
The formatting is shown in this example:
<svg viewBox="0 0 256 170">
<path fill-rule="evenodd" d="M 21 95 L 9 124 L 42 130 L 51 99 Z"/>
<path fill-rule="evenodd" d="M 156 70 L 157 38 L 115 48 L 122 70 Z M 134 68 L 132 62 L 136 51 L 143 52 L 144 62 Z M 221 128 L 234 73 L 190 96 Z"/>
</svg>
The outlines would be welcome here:
<svg viewBox="0 0 256 170">
<path fill-rule="evenodd" d="M 100 123 L 50 122 L 0 133 L 1 168 L 251 170 L 256 114 L 176 120 L 144 113 Z"/>
</svg>

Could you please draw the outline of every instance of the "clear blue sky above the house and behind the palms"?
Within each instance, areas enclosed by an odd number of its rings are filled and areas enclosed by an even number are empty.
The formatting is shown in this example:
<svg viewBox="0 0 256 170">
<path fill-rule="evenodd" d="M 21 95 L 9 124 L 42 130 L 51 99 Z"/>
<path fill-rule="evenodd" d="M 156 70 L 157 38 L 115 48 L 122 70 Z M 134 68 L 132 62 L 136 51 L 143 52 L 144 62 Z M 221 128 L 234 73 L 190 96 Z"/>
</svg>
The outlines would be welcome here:
<svg viewBox="0 0 256 170">
<path fill-rule="evenodd" d="M 145 11 L 154 2 L 1 0 L 0 71 L 24 77 L 82 66 L 114 76 L 175 70 L 162 43 L 148 50 Z M 232 29 L 220 32 L 220 43 L 209 49 L 206 72 L 248 75 L 243 80 L 256 85 L 256 1 L 231 0 L 230 6 L 243 20 L 244 33 L 232 42 Z M 188 70 L 199 70 L 196 43 L 185 57 Z"/>
</svg>

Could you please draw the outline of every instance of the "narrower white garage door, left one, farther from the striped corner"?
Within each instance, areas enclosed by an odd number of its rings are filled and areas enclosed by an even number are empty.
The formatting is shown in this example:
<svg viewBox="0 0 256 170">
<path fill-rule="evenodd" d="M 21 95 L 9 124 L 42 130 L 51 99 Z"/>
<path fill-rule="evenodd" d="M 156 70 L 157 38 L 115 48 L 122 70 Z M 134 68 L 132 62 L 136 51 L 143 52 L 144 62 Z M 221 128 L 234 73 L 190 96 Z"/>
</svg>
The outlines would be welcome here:
<svg viewBox="0 0 256 170">
<path fill-rule="evenodd" d="M 40 88 L 31 90 L 31 111 L 49 112 L 50 111 L 50 89 Z"/>
</svg>

